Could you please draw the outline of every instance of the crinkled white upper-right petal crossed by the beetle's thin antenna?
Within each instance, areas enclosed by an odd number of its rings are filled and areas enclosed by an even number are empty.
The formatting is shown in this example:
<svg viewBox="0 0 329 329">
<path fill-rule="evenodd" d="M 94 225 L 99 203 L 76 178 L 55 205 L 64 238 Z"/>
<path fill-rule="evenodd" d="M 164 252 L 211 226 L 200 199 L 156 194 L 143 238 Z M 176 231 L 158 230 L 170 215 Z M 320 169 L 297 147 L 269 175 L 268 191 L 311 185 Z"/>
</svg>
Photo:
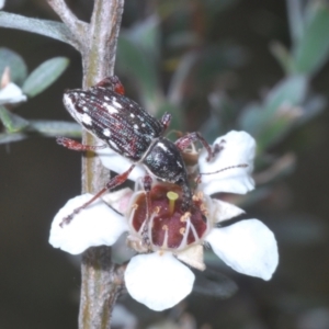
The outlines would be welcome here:
<svg viewBox="0 0 329 329">
<path fill-rule="evenodd" d="M 218 192 L 245 194 L 253 190 L 254 182 L 251 178 L 256 151 L 254 139 L 245 132 L 229 132 L 215 140 L 223 147 L 216 158 L 207 161 L 205 149 L 200 155 L 198 166 L 203 173 L 212 173 L 231 166 L 248 164 L 247 168 L 229 168 L 217 173 L 203 174 L 198 189 L 206 194 Z"/>
</svg>

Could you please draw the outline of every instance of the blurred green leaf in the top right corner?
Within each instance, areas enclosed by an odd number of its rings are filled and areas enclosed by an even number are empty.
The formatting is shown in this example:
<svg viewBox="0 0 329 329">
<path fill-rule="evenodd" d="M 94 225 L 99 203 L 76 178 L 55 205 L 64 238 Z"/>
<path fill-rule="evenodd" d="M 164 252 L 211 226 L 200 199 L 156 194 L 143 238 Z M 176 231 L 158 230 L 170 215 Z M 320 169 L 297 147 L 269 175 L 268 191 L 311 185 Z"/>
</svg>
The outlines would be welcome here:
<svg viewBox="0 0 329 329">
<path fill-rule="evenodd" d="M 311 3 L 305 32 L 294 49 L 294 72 L 314 75 L 329 56 L 329 7 Z"/>
</svg>

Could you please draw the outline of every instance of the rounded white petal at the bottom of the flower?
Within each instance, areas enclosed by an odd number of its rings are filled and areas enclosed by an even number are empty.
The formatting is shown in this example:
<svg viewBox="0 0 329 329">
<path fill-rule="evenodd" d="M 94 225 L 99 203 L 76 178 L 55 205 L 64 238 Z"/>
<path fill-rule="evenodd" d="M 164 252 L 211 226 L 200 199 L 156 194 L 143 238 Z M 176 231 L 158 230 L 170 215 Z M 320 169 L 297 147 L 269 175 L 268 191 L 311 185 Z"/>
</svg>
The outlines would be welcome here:
<svg viewBox="0 0 329 329">
<path fill-rule="evenodd" d="M 154 310 L 170 308 L 186 297 L 194 274 L 172 253 L 154 252 L 135 256 L 127 265 L 125 283 L 137 302 Z"/>
</svg>

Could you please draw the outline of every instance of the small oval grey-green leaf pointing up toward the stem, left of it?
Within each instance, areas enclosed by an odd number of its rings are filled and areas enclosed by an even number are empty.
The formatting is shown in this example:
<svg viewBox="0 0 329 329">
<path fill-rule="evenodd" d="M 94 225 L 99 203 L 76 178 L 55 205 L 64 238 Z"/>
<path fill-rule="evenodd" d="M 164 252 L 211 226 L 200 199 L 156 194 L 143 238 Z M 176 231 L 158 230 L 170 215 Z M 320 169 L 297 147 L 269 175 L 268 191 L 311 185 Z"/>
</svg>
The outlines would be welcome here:
<svg viewBox="0 0 329 329">
<path fill-rule="evenodd" d="M 33 98 L 48 88 L 65 71 L 69 64 L 66 57 L 55 57 L 39 65 L 25 80 L 22 90 Z"/>
</svg>

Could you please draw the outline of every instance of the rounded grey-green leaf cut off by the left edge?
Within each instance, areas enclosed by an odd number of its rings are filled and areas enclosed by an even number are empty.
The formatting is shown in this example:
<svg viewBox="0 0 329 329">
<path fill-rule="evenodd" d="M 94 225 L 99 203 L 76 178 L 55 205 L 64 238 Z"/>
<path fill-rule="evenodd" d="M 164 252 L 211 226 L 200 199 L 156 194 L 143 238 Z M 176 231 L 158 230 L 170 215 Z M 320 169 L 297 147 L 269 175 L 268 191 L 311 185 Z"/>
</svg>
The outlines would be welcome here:
<svg viewBox="0 0 329 329">
<path fill-rule="evenodd" d="M 24 59 L 16 53 L 1 47 L 0 48 L 0 77 L 2 76 L 5 67 L 10 68 L 11 81 L 16 84 L 22 84 L 27 76 L 27 68 Z"/>
</svg>

